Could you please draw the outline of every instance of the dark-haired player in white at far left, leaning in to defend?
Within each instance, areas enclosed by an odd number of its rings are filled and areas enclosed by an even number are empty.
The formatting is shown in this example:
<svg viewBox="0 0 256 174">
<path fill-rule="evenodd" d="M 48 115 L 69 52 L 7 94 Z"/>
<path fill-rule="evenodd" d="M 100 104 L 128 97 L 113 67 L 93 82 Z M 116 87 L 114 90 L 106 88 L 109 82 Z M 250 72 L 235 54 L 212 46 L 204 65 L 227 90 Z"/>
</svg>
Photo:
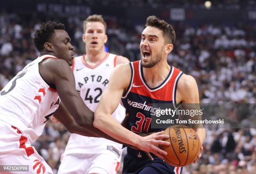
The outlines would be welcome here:
<svg viewBox="0 0 256 174">
<path fill-rule="evenodd" d="M 31 144 L 55 111 L 55 118 L 71 133 L 116 140 L 92 126 L 93 112 L 75 89 L 70 68 L 74 51 L 64 25 L 42 23 L 34 43 L 41 56 L 0 91 L 0 164 L 28 165 L 28 171 L 23 172 L 26 174 L 53 174 Z M 148 138 L 164 137 L 155 134 Z M 146 142 L 144 137 L 139 139 L 142 145 Z"/>
</svg>

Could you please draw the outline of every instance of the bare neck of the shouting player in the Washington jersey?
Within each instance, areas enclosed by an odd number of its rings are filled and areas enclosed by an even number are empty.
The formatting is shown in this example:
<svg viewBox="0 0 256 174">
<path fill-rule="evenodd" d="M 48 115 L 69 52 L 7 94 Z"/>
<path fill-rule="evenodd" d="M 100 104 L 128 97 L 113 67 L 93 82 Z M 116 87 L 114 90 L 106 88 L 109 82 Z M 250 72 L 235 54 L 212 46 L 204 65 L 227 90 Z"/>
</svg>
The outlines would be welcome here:
<svg viewBox="0 0 256 174">
<path fill-rule="evenodd" d="M 159 86 L 168 76 L 171 67 L 167 62 L 159 62 L 152 68 L 143 67 L 143 76 L 147 84 L 151 87 Z"/>
</svg>

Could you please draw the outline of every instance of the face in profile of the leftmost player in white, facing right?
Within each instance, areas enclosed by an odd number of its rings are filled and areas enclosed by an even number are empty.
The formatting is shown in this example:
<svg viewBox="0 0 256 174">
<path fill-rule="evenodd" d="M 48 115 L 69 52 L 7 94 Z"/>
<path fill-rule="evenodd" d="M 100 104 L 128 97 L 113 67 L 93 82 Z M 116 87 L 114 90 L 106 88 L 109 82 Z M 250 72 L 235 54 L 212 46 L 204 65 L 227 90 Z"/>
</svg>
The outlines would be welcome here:
<svg viewBox="0 0 256 174">
<path fill-rule="evenodd" d="M 72 66 L 74 59 L 74 47 L 70 43 L 71 39 L 65 30 L 55 30 L 55 34 L 51 39 L 54 56 L 67 61 Z"/>
</svg>

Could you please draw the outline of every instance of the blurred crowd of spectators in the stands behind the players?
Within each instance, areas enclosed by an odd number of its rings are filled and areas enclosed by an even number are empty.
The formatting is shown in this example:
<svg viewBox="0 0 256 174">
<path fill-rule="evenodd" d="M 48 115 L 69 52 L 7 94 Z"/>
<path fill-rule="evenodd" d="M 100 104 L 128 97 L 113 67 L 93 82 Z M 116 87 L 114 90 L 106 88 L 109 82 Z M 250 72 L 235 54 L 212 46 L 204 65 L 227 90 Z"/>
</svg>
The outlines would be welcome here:
<svg viewBox="0 0 256 174">
<path fill-rule="evenodd" d="M 154 1 L 154 0 L 153 0 Z M 145 1 L 147 2 L 147 1 Z M 103 16 L 104 17 L 104 16 Z M 139 44 L 143 23 L 125 26 L 107 18 L 111 53 L 140 59 Z M 55 19 L 58 20 L 58 19 Z M 82 22 L 69 17 L 63 21 L 77 56 L 84 54 Z M 39 56 L 33 33 L 41 21 L 22 15 L 0 13 L 0 90 L 23 67 Z M 202 24 L 174 26 L 177 40 L 168 56 L 169 64 L 192 75 L 202 103 L 256 102 L 256 26 Z M 184 174 L 253 174 L 256 171 L 256 129 L 207 128 L 202 158 L 184 167 Z M 49 121 L 33 146 L 57 171 L 69 133 L 61 124 Z"/>
</svg>

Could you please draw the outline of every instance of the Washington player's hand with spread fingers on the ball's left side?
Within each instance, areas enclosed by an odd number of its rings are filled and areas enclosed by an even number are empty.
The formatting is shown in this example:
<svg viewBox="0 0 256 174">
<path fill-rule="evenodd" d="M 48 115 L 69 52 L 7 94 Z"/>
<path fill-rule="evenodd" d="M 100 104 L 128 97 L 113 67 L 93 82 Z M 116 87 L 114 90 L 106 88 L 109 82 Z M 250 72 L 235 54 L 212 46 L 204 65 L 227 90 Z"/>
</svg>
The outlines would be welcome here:
<svg viewBox="0 0 256 174">
<path fill-rule="evenodd" d="M 169 135 L 161 135 L 163 132 L 164 131 L 152 133 L 149 136 L 141 137 L 140 143 L 138 143 L 138 148 L 143 151 L 151 152 L 163 159 L 162 155 L 167 155 L 167 152 L 161 150 L 158 145 L 170 145 L 168 141 L 162 141 L 162 139 L 169 138 Z"/>
</svg>

